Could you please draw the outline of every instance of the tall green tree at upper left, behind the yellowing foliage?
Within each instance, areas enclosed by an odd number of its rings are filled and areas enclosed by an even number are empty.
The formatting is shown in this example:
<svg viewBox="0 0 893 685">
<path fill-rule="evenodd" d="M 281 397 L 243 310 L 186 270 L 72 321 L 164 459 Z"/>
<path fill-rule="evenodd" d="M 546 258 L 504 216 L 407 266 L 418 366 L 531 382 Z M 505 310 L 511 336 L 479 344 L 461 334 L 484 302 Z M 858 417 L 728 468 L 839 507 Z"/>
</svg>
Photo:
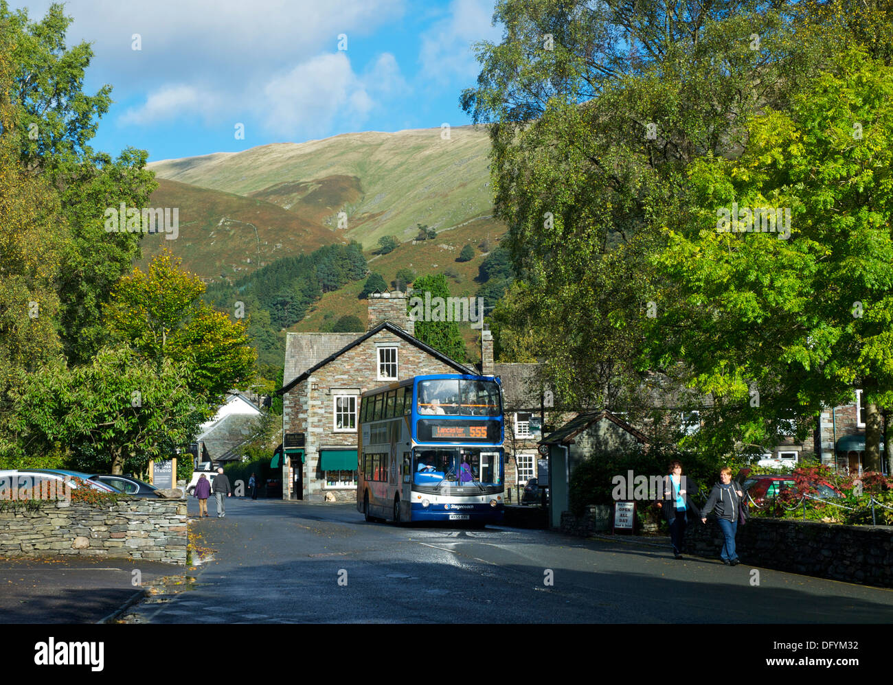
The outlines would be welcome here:
<svg viewBox="0 0 893 685">
<path fill-rule="evenodd" d="M 104 342 L 101 311 L 113 285 L 140 255 L 141 235 L 106 232 L 104 210 L 121 202 L 142 208 L 156 184 L 145 169 L 145 151 L 127 148 L 113 160 L 89 146 L 112 88 L 84 92 L 93 52 L 87 42 L 66 48 L 70 23 L 62 4 L 51 5 L 43 20 L 29 21 L 25 10 L 10 12 L 0 0 L 0 33 L 13 65 L 13 119 L 4 122 L 0 136 L 14 136 L 24 168 L 62 196 L 60 219 L 71 228 L 71 240 L 63 243 L 56 285 L 58 322 L 66 355 L 83 362 Z"/>
</svg>

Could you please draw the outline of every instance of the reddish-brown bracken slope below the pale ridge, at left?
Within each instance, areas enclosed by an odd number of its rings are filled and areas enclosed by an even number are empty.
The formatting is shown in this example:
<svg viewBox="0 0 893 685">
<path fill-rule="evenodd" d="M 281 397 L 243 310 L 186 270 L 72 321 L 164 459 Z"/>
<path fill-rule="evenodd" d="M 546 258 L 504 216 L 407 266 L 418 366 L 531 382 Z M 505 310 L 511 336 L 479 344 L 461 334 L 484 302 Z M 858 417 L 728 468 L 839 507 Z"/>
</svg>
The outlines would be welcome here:
<svg viewBox="0 0 893 685">
<path fill-rule="evenodd" d="M 204 280 L 238 277 L 280 257 L 313 252 L 338 235 L 273 202 L 157 178 L 153 207 L 179 208 L 179 236 L 149 234 L 142 241 L 145 268 L 164 248 Z"/>
</svg>

